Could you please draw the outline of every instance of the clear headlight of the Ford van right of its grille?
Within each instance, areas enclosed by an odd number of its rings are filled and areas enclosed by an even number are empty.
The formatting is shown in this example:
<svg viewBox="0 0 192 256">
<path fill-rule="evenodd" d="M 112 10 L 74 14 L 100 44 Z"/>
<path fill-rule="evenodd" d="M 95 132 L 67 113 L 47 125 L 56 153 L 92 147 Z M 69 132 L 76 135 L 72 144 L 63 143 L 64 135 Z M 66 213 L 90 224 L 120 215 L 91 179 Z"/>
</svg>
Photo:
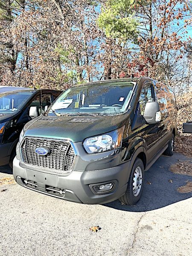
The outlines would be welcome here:
<svg viewBox="0 0 192 256">
<path fill-rule="evenodd" d="M 83 143 L 85 150 L 87 153 L 93 154 L 120 148 L 124 128 L 125 126 L 106 134 L 85 139 Z"/>
</svg>

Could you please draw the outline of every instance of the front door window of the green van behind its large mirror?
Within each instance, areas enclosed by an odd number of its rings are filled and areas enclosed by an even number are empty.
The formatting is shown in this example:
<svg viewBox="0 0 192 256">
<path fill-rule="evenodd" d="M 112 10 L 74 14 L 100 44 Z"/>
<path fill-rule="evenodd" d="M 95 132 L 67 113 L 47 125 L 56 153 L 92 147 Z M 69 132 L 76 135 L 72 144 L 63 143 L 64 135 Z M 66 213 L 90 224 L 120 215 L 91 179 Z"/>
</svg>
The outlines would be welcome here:
<svg viewBox="0 0 192 256">
<path fill-rule="evenodd" d="M 153 102 L 153 94 L 151 90 L 151 84 L 147 84 L 143 87 L 140 94 L 140 109 L 141 109 L 141 115 L 144 115 L 145 105 L 147 102 Z"/>
</svg>

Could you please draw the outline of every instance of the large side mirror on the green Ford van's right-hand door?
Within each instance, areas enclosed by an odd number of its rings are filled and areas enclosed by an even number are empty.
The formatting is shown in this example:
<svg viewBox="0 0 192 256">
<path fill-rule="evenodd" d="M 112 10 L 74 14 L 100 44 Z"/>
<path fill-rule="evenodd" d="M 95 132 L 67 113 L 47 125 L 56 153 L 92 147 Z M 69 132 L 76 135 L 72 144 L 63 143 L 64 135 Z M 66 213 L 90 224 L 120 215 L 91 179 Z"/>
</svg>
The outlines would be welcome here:
<svg viewBox="0 0 192 256">
<path fill-rule="evenodd" d="M 160 122 L 161 120 L 161 112 L 159 109 L 158 102 L 147 102 L 145 106 L 145 111 L 143 115 L 145 121 L 150 124 L 154 125 Z"/>
</svg>

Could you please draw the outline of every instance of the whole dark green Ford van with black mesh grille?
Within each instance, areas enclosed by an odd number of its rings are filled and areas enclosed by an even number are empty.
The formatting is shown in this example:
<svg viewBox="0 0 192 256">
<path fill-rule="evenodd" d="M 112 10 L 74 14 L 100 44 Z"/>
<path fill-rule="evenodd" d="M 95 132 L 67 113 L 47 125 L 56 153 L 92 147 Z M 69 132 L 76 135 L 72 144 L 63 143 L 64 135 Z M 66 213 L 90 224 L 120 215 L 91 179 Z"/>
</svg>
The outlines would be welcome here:
<svg viewBox="0 0 192 256">
<path fill-rule="evenodd" d="M 136 204 L 144 170 L 174 151 L 175 96 L 150 78 L 70 87 L 25 125 L 13 174 L 26 188 L 84 204 Z"/>
</svg>

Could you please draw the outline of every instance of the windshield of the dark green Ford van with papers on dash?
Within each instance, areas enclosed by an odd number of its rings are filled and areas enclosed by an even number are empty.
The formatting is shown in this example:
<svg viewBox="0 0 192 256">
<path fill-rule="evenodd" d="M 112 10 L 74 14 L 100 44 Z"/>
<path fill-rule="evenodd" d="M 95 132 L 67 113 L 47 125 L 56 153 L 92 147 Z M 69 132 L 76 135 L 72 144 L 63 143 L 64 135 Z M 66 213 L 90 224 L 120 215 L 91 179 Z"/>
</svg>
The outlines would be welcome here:
<svg viewBox="0 0 192 256">
<path fill-rule="evenodd" d="M 133 87 L 131 81 L 101 82 L 71 87 L 64 91 L 49 113 L 116 115 L 126 111 Z"/>
</svg>

